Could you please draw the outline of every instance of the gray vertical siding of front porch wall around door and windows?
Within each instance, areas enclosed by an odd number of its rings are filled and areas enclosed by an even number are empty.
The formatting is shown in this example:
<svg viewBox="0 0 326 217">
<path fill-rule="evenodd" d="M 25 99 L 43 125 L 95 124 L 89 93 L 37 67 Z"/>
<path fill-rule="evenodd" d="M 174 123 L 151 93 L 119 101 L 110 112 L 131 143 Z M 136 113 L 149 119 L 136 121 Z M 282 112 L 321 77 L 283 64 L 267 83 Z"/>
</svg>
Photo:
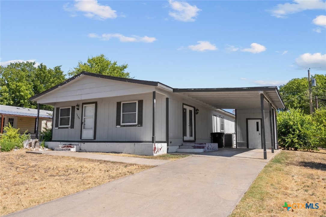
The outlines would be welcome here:
<svg viewBox="0 0 326 217">
<path fill-rule="evenodd" d="M 116 127 L 116 103 L 119 101 L 143 100 L 143 125 L 139 127 Z M 81 140 L 82 103 L 97 101 L 96 139 Z M 151 95 L 129 95 L 124 97 L 100 98 L 87 101 L 56 103 L 55 108 L 80 105 L 75 111 L 73 129 L 53 129 L 52 140 L 64 141 L 151 141 L 152 98 Z M 165 98 L 157 99 L 157 141 L 165 140 Z M 79 117 L 79 118 L 78 118 Z M 55 113 L 53 120 L 55 120 Z M 164 121 L 163 121 L 164 120 Z"/>
</svg>

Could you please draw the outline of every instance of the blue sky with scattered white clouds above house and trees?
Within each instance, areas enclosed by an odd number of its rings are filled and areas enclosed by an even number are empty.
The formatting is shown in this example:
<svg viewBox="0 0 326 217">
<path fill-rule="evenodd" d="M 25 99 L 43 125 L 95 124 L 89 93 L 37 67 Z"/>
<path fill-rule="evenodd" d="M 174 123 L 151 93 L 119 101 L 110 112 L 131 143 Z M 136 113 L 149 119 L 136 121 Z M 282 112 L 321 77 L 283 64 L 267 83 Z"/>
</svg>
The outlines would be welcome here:
<svg viewBox="0 0 326 217">
<path fill-rule="evenodd" d="M 325 1 L 1 1 L 1 65 L 65 73 L 103 53 L 175 88 L 279 86 L 326 70 Z"/>
</svg>

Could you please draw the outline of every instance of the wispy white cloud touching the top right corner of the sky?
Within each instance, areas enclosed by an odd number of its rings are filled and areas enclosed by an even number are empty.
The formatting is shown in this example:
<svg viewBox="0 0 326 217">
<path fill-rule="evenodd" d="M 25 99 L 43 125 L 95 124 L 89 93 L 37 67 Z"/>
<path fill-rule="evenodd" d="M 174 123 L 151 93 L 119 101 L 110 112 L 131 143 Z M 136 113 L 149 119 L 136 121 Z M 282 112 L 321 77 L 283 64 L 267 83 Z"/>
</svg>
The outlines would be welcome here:
<svg viewBox="0 0 326 217">
<path fill-rule="evenodd" d="M 302 1 L 295 0 L 293 3 L 278 4 L 274 9 L 269 10 L 272 16 L 286 18 L 288 14 L 294 14 L 304 10 L 323 9 L 326 10 L 326 2 L 322 0 Z"/>
</svg>

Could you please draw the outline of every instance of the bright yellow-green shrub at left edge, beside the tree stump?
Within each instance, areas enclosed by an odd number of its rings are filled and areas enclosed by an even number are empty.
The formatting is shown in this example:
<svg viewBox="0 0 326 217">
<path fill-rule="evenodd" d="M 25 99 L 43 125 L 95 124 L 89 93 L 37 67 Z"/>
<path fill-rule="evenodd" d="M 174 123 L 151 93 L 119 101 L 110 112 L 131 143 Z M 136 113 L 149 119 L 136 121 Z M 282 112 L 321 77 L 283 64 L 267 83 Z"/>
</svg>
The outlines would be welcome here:
<svg viewBox="0 0 326 217">
<path fill-rule="evenodd" d="M 4 130 L 6 131 L 6 134 L 0 135 L 1 152 L 9 152 L 15 147 L 22 148 L 23 141 L 29 139 L 29 135 L 25 134 L 26 132 L 23 135 L 20 135 L 18 132 L 19 129 L 13 128 L 10 123 L 8 123 L 8 126 L 4 127 Z"/>
</svg>

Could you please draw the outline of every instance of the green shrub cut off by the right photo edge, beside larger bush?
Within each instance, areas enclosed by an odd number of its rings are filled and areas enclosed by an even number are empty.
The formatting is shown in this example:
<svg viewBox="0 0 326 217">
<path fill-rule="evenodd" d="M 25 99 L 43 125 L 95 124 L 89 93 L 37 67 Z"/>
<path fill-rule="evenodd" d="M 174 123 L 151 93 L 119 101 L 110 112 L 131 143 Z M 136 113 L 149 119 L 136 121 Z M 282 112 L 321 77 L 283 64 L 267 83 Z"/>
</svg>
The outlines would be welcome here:
<svg viewBox="0 0 326 217">
<path fill-rule="evenodd" d="M 312 115 L 312 119 L 316 124 L 318 147 L 326 148 L 326 108 L 318 108 Z"/>
</svg>

